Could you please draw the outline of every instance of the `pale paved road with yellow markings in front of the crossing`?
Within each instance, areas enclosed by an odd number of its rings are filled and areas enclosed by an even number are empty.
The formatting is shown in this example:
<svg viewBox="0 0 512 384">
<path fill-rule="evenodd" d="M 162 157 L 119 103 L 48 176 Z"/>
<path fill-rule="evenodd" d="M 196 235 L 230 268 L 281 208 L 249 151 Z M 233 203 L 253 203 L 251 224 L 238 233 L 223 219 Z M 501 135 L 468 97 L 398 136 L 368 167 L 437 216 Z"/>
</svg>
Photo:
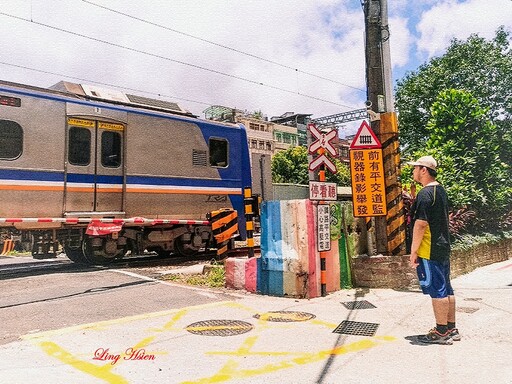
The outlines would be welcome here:
<svg viewBox="0 0 512 384">
<path fill-rule="evenodd" d="M 512 259 L 454 279 L 462 341 L 450 346 L 416 340 L 433 315 L 415 290 L 306 300 L 147 272 L 0 280 L 0 383 L 512 383 Z"/>
</svg>

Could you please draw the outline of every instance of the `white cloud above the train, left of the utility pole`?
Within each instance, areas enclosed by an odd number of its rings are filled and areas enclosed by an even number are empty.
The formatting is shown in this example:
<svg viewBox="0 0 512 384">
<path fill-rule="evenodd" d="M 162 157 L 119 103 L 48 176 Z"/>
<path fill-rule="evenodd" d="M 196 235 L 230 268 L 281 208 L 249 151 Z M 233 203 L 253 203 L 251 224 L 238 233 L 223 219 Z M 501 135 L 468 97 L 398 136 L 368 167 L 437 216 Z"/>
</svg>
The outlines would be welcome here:
<svg viewBox="0 0 512 384">
<path fill-rule="evenodd" d="M 295 111 L 324 116 L 358 108 L 365 99 L 364 92 L 351 88 L 364 89 L 365 75 L 364 17 L 360 8 L 347 8 L 350 2 L 91 1 L 292 69 L 87 2 L 57 0 L 4 0 L 2 11 L 133 50 L 0 16 L 2 35 L 13 36 L 16 31 L 6 50 L 2 49 L 4 58 L 9 58 L 5 61 L 92 82 L 262 110 L 267 115 Z M 62 79 L 6 66 L 1 69 L 4 80 L 39 86 Z M 200 115 L 207 107 L 181 104 Z"/>
</svg>

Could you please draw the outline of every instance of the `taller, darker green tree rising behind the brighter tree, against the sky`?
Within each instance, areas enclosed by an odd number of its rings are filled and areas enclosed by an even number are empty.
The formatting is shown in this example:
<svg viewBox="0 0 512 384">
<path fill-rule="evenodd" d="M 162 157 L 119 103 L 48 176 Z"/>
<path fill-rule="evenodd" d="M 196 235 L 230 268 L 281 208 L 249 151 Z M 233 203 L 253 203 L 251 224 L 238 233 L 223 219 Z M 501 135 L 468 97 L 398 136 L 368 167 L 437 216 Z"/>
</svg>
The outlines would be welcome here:
<svg viewBox="0 0 512 384">
<path fill-rule="evenodd" d="M 445 55 L 421 65 L 417 71 L 408 73 L 397 82 L 395 100 L 404 155 L 411 155 L 425 145 L 429 136 L 427 123 L 431 107 L 439 93 L 446 89 L 470 92 L 481 107 L 488 108 L 488 117 L 496 123 L 499 131 L 508 133 L 507 140 L 510 140 L 510 39 L 510 33 L 503 27 L 491 41 L 478 35 L 471 35 L 466 41 L 454 39 Z M 500 156 L 506 160 L 510 152 L 505 151 Z"/>
</svg>

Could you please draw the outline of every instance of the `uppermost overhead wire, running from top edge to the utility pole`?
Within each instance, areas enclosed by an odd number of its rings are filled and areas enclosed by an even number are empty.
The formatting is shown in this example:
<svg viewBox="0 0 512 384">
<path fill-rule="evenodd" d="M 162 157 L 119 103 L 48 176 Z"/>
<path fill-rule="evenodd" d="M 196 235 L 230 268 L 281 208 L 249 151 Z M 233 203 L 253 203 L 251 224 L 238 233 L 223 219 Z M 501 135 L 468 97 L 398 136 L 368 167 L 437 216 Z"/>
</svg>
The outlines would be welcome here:
<svg viewBox="0 0 512 384">
<path fill-rule="evenodd" d="M 121 12 L 121 11 L 118 11 L 118 10 L 115 10 L 115 9 L 112 9 L 112 8 L 109 8 L 109 7 L 105 7 L 104 5 L 100 5 L 100 4 L 93 3 L 92 1 L 88 1 L 88 0 L 82 0 L 82 1 L 83 1 L 84 3 L 87 3 L 87 4 L 90 4 L 90 5 L 93 5 L 93 6 L 95 6 L 95 7 L 102 8 L 102 9 L 104 9 L 104 10 L 107 10 L 107 11 L 109 11 L 109 12 L 113 12 L 113 13 L 116 13 L 116 14 L 118 14 L 118 15 L 122 15 L 122 16 L 128 17 L 128 18 L 130 18 L 130 19 L 140 21 L 141 23 L 149 24 L 149 25 L 152 25 L 152 26 L 154 26 L 154 27 L 158 27 L 158 28 L 165 29 L 165 30 L 167 30 L 167 31 L 171 31 L 171 32 L 174 32 L 174 33 L 178 33 L 178 34 L 180 34 L 180 35 L 187 36 L 187 37 L 190 37 L 190 38 L 192 38 L 192 39 L 199 40 L 199 41 L 202 41 L 202 42 L 205 42 L 205 43 L 208 43 L 208 44 L 212 44 L 212 45 L 215 45 L 215 46 L 217 46 L 217 47 L 220 47 L 220 48 L 223 48 L 223 49 L 227 49 L 227 50 L 229 50 L 229 51 L 233 51 L 233 52 L 239 53 L 239 54 L 241 54 L 241 55 L 245 55 L 245 56 L 248 56 L 248 57 L 252 57 L 252 58 L 254 58 L 254 59 L 262 60 L 262 61 L 265 61 L 265 62 L 270 63 L 270 64 L 277 65 L 277 66 L 282 67 L 282 68 L 291 69 L 292 71 L 295 71 L 295 72 L 298 72 L 298 73 L 303 73 L 303 74 L 308 75 L 308 76 L 316 77 L 317 79 L 322 79 L 322 80 L 330 81 L 330 82 L 332 82 L 332 83 L 340 84 L 340 85 L 343 85 L 343 86 L 348 87 L 348 88 L 355 89 L 355 90 L 360 91 L 360 92 L 366 92 L 366 90 L 364 90 L 364 89 L 357 88 L 357 87 L 353 87 L 353 86 L 351 86 L 351 85 L 344 84 L 344 83 L 339 82 L 339 81 L 337 81 L 337 80 L 333 80 L 333 79 L 329 79 L 329 78 L 327 78 L 327 77 L 319 76 L 319 75 L 316 75 L 316 74 L 314 74 L 314 73 L 306 72 L 306 71 L 300 70 L 300 69 L 298 69 L 298 68 L 294 68 L 294 67 L 291 67 L 291 66 L 289 66 L 289 65 L 279 63 L 279 62 L 274 61 L 274 60 L 270 60 L 270 59 L 267 59 L 267 58 L 264 58 L 264 57 L 261 57 L 261 56 L 254 55 L 254 54 L 252 54 L 252 53 L 248 53 L 248 52 L 245 52 L 245 51 L 241 51 L 241 50 L 239 50 L 239 49 L 236 49 L 236 48 L 233 48 L 233 47 L 229 47 L 229 46 L 227 46 L 227 45 L 219 44 L 219 43 L 216 43 L 216 42 L 214 42 L 214 41 L 204 39 L 204 38 L 202 38 L 202 37 L 194 36 L 194 35 L 191 35 L 190 33 L 182 32 L 182 31 L 179 31 L 179 30 L 177 30 L 177 29 L 173 29 L 173 28 L 167 27 L 167 26 L 162 25 L 162 24 L 158 24 L 158 23 L 155 23 L 155 22 L 152 22 L 152 21 L 146 20 L 146 19 L 142 19 L 142 18 L 140 18 L 140 17 L 133 16 L 133 15 L 130 15 L 130 14 L 128 14 L 128 13 L 124 13 L 124 12 Z"/>
</svg>

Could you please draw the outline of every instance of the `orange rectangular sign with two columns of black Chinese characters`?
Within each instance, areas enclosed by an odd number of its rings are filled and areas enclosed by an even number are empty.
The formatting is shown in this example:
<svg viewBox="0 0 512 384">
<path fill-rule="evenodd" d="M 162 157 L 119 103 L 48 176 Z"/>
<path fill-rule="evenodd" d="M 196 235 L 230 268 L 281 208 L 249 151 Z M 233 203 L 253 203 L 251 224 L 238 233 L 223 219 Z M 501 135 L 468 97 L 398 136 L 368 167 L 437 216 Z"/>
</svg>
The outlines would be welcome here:
<svg viewBox="0 0 512 384">
<path fill-rule="evenodd" d="M 350 150 L 354 216 L 384 216 L 386 186 L 382 149 Z"/>
</svg>

